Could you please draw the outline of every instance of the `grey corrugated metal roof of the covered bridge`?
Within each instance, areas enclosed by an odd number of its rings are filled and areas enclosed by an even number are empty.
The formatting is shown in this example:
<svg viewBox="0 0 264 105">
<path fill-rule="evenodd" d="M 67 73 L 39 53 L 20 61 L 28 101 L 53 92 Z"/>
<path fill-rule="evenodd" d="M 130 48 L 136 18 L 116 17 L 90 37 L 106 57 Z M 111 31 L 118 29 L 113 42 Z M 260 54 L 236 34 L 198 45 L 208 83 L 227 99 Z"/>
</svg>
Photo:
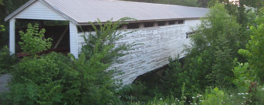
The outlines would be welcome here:
<svg viewBox="0 0 264 105">
<path fill-rule="evenodd" d="M 31 0 L 32 1 L 32 0 Z M 114 0 L 39 0 L 62 15 L 67 15 L 78 23 L 88 23 L 100 19 L 105 22 L 123 17 L 137 20 L 182 19 L 205 17 L 208 8 L 177 5 L 125 2 Z"/>
</svg>

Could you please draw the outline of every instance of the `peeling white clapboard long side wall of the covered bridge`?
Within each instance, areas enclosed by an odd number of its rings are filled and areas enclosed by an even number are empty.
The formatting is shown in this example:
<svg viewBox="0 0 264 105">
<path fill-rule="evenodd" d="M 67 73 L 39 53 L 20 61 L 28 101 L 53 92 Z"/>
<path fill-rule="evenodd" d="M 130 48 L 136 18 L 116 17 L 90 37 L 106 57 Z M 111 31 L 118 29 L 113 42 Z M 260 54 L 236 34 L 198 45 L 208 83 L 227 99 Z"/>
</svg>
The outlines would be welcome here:
<svg viewBox="0 0 264 105">
<path fill-rule="evenodd" d="M 191 31 L 190 27 L 199 23 L 199 19 L 187 19 L 184 24 L 141 28 L 126 35 L 116 44 L 136 42 L 144 45 L 137 46 L 138 50 L 122 57 L 122 64 L 112 65 L 125 72 L 124 75 L 116 78 L 122 78 L 124 84 L 131 84 L 138 76 L 168 64 L 170 56 L 177 57 L 179 54 L 180 58 L 184 57 L 182 52 L 184 44 L 190 43 L 190 39 L 186 39 L 186 32 Z M 84 33 L 78 34 L 79 52 L 84 44 L 82 35 Z"/>
</svg>

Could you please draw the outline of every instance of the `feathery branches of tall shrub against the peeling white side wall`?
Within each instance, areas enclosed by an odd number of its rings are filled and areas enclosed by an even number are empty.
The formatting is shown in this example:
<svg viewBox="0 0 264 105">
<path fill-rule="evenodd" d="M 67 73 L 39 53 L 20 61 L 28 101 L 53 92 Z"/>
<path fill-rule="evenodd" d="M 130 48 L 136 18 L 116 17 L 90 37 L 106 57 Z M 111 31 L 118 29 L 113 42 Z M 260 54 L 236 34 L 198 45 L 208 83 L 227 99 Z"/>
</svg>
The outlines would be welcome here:
<svg viewBox="0 0 264 105">
<path fill-rule="evenodd" d="M 102 62 L 104 64 L 110 64 L 111 63 L 120 63 L 119 58 L 125 56 L 128 54 L 128 51 L 135 50 L 133 47 L 140 45 L 135 43 L 122 43 L 117 46 L 116 42 L 120 40 L 121 38 L 125 37 L 126 34 L 133 33 L 135 31 L 121 31 L 119 28 L 122 24 L 128 24 L 127 22 L 124 22 L 126 20 L 136 20 L 133 18 L 122 18 L 117 20 L 116 22 L 112 22 L 112 19 L 107 21 L 106 24 L 102 25 L 102 22 L 98 19 L 98 21 L 95 21 L 99 24 L 100 28 L 97 29 L 97 27 L 92 24 L 95 33 L 89 32 L 87 35 L 84 33 L 84 41 L 86 45 L 82 46 L 82 52 L 84 52 L 84 55 L 87 59 L 90 59 L 94 53 L 101 52 L 104 50 L 104 47 L 110 47 L 108 52 L 105 53 L 105 58 L 102 59 Z"/>
</svg>

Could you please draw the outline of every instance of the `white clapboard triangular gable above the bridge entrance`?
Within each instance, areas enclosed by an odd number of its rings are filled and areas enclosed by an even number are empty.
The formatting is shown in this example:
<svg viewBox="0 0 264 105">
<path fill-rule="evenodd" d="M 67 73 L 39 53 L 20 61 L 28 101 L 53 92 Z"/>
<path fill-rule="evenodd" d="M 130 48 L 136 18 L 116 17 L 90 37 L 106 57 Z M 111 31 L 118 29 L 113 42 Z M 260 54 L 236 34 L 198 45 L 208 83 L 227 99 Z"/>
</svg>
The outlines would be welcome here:
<svg viewBox="0 0 264 105">
<path fill-rule="evenodd" d="M 14 16 L 16 19 L 67 20 L 58 12 L 52 10 L 39 0 L 20 11 Z"/>
</svg>

